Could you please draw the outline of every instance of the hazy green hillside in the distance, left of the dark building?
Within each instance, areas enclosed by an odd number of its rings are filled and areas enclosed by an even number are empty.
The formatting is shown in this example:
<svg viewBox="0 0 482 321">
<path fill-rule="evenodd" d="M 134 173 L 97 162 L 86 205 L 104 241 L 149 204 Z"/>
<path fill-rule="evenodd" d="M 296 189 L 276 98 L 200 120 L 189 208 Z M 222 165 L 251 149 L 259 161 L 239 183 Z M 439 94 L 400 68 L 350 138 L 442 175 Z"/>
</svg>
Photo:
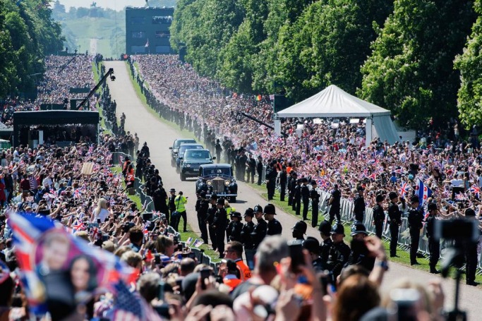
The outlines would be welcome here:
<svg viewBox="0 0 482 321">
<path fill-rule="evenodd" d="M 125 21 L 123 12 L 117 13 L 116 20 L 83 17 L 61 21 L 68 51 L 88 50 L 89 53 L 96 51 L 106 58 L 119 57 L 126 50 Z"/>
</svg>

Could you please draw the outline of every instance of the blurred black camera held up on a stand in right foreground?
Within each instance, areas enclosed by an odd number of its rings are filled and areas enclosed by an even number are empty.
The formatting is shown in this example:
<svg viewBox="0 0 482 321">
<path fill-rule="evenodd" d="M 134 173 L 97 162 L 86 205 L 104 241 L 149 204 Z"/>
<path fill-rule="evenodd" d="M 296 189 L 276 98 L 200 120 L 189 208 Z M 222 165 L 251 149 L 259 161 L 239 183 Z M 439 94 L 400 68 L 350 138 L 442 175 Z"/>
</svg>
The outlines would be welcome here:
<svg viewBox="0 0 482 321">
<path fill-rule="evenodd" d="M 475 219 L 437 219 L 434 232 L 435 240 L 447 238 L 476 243 L 480 236 L 478 222 Z"/>
</svg>

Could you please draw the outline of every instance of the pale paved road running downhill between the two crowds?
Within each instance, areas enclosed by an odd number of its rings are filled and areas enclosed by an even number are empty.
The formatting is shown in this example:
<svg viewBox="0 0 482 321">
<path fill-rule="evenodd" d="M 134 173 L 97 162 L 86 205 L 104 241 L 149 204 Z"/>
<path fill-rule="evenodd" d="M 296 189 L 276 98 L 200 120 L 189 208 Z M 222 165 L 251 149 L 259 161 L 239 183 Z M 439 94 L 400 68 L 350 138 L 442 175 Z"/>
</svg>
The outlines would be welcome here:
<svg viewBox="0 0 482 321">
<path fill-rule="evenodd" d="M 129 80 L 128 69 L 125 63 L 121 61 L 107 61 L 107 68 L 114 68 L 116 75 L 115 82 L 109 82 L 112 99 L 116 99 L 118 116 L 123 112 L 126 114 L 126 131 L 131 133 L 138 133 L 140 143 L 147 142 L 150 147 L 151 160 L 159 169 L 164 181 L 165 188 L 176 188 L 177 191 L 182 190 L 184 195 L 189 197 L 187 213 L 188 222 L 195 232 L 199 233 L 197 220 L 195 218 L 195 187 L 194 181 L 181 182 L 179 174 L 171 167 L 169 146 L 172 145 L 174 139 L 179 138 L 179 133 L 170 126 L 162 123 L 157 117 L 152 116 L 138 97 L 131 86 Z M 248 207 L 253 207 L 256 204 L 266 205 L 267 201 L 260 197 L 260 194 L 253 190 L 246 184 L 239 182 L 239 196 L 238 201 L 234 205 L 236 210 L 243 213 Z M 295 224 L 297 219 L 291 214 L 287 214 L 277 208 L 277 219 L 282 223 L 283 236 L 291 238 L 291 226 Z M 307 234 L 319 238 L 318 231 L 308 226 Z M 390 269 L 386 274 L 382 289 L 390 289 L 391 284 L 402 277 L 409 277 L 416 281 L 426 284 L 430 279 L 437 278 L 433 274 L 423 272 L 417 269 L 411 269 L 405 265 L 400 265 L 394 262 L 390 263 Z M 442 284 L 447 296 L 446 306 L 452 306 L 454 281 L 442 279 Z M 482 291 L 473 286 L 461 286 L 460 308 L 469 313 L 469 320 L 478 320 L 476 315 L 482 315 Z M 482 317 L 481 317 L 482 318 Z"/>
</svg>

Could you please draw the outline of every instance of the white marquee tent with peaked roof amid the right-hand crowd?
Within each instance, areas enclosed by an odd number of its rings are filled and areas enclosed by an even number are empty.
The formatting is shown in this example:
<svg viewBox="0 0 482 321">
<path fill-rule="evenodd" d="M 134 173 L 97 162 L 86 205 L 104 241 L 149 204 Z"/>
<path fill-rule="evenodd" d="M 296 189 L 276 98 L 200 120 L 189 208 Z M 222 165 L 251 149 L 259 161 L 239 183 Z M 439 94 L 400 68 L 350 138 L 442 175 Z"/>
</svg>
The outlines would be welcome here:
<svg viewBox="0 0 482 321">
<path fill-rule="evenodd" d="M 366 142 L 379 137 L 393 144 L 398 140 L 390 111 L 350 95 L 335 85 L 326 87 L 318 94 L 279 111 L 278 118 L 366 118 Z M 275 121 L 275 128 L 280 128 Z"/>
</svg>

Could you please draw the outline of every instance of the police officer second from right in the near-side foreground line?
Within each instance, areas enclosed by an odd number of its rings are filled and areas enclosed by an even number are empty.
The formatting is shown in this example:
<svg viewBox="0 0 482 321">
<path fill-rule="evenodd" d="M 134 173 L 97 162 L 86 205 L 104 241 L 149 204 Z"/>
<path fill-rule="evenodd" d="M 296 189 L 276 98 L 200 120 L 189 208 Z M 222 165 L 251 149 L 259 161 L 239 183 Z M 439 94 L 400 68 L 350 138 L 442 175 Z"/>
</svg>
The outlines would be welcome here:
<svg viewBox="0 0 482 321">
<path fill-rule="evenodd" d="M 342 268 L 348 262 L 350 248 L 343 241 L 345 231 L 341 223 L 333 226 L 331 234 L 333 243 L 327 260 L 327 269 L 332 272 L 336 280 L 340 272 L 342 272 Z"/>
</svg>

